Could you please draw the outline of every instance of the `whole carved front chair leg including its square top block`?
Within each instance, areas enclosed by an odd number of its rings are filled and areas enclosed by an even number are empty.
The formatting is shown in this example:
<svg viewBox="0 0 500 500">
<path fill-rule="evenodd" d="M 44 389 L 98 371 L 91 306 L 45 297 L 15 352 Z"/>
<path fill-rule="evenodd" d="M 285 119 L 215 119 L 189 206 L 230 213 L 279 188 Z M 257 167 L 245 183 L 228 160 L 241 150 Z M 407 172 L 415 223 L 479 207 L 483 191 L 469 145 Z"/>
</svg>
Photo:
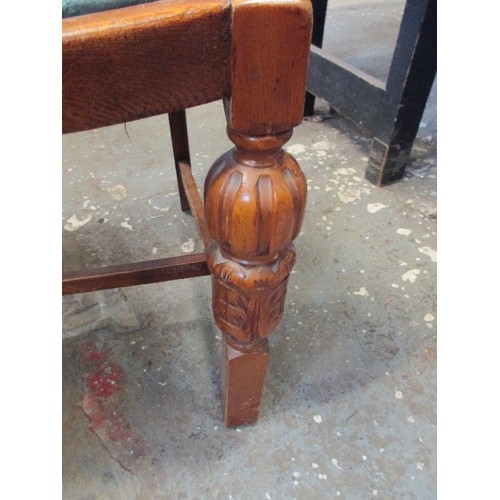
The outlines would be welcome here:
<svg viewBox="0 0 500 500">
<path fill-rule="evenodd" d="M 309 1 L 233 0 L 227 108 L 236 147 L 215 162 L 205 181 L 213 238 L 207 265 L 214 317 L 224 333 L 227 427 L 259 416 L 267 336 L 282 317 L 295 262 L 292 241 L 302 224 L 307 183 L 283 145 L 302 120 L 311 19 Z"/>
</svg>

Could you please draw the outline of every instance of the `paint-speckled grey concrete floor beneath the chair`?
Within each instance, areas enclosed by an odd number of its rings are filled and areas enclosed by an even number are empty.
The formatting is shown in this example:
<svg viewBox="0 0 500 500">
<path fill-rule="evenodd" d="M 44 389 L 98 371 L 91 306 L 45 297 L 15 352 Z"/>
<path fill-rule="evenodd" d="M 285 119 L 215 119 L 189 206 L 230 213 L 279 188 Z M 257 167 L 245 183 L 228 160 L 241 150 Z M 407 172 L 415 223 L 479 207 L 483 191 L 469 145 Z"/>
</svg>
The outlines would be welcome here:
<svg viewBox="0 0 500 500">
<path fill-rule="evenodd" d="M 63 498 L 436 498 L 435 104 L 382 189 L 323 102 L 287 144 L 309 198 L 256 425 L 221 423 L 210 278 L 63 299 Z M 231 147 L 221 103 L 188 122 L 202 186 Z M 202 250 L 166 116 L 63 148 L 65 269 Z"/>
</svg>

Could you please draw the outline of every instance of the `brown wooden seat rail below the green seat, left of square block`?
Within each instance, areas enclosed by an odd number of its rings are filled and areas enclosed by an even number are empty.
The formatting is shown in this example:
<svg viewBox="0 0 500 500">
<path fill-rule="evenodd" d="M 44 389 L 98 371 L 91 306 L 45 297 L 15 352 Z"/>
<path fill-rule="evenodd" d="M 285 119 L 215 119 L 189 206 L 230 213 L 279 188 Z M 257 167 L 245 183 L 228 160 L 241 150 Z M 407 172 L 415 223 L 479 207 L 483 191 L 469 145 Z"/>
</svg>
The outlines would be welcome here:
<svg viewBox="0 0 500 500">
<path fill-rule="evenodd" d="M 64 19 L 63 132 L 230 94 L 230 4 L 168 0 Z"/>
</svg>

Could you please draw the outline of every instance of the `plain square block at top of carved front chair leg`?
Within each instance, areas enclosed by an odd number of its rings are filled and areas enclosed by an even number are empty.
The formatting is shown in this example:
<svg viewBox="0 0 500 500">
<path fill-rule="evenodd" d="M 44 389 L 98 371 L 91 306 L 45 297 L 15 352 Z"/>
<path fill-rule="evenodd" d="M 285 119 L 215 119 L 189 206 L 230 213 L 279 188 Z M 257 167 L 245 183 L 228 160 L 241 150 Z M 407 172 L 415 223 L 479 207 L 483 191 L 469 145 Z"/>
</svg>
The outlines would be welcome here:
<svg viewBox="0 0 500 500">
<path fill-rule="evenodd" d="M 248 135 L 302 121 L 312 7 L 304 0 L 233 0 L 229 126 Z"/>
</svg>

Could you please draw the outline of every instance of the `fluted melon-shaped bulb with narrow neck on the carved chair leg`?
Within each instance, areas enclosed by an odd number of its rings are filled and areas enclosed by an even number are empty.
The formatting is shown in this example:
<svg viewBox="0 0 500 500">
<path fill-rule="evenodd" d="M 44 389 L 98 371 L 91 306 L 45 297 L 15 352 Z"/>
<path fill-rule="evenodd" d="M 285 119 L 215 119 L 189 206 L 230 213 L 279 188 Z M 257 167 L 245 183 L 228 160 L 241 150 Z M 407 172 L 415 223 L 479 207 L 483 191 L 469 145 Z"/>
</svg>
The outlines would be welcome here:
<svg viewBox="0 0 500 500">
<path fill-rule="evenodd" d="M 232 130 L 236 148 L 221 156 L 205 183 L 207 224 L 221 253 L 245 265 L 275 261 L 297 237 L 307 185 L 282 149 L 291 131 L 248 137 Z"/>
</svg>

